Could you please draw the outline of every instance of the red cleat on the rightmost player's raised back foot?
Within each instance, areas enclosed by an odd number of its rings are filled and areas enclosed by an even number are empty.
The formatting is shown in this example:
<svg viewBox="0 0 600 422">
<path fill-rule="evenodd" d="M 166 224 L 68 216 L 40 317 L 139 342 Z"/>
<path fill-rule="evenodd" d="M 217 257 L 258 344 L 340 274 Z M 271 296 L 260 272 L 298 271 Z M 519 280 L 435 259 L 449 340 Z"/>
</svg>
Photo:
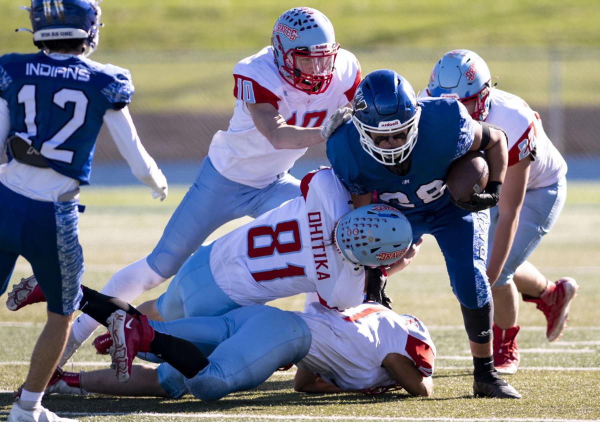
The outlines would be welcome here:
<svg viewBox="0 0 600 422">
<path fill-rule="evenodd" d="M 569 316 L 571 300 L 577 294 L 578 288 L 575 279 L 563 277 L 556 283 L 549 283 L 539 298 L 523 295 L 524 301 L 537 304 L 538 309 L 544 312 L 548 322 L 546 328 L 548 342 L 553 342 L 562 336 L 562 331 L 566 327 L 566 319 Z"/>
</svg>

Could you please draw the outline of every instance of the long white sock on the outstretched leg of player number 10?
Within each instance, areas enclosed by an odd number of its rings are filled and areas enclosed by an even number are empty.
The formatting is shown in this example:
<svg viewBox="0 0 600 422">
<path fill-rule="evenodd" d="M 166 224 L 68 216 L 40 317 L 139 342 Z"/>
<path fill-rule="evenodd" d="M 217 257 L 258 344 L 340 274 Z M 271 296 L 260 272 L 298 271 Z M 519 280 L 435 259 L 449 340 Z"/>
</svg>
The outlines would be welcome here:
<svg viewBox="0 0 600 422">
<path fill-rule="evenodd" d="M 113 274 L 100 293 L 118 297 L 131 303 L 143 292 L 155 288 L 166 280 L 150 268 L 146 257 L 144 257 Z M 73 321 L 71 330 L 73 330 L 73 336 L 77 342 L 83 343 L 94 333 L 98 326 L 100 324 L 95 319 L 82 314 Z"/>
</svg>

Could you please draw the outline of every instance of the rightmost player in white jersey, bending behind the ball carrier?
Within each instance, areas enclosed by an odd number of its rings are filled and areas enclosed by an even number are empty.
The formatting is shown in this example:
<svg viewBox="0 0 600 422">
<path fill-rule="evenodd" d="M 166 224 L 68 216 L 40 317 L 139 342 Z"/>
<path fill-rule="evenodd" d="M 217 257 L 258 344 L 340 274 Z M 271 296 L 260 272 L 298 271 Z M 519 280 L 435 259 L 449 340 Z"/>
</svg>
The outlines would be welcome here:
<svg viewBox="0 0 600 422">
<path fill-rule="evenodd" d="M 502 127 L 508 137 L 508 170 L 500 202 L 491 209 L 487 274 L 494 298 L 494 366 L 515 373 L 518 295 L 547 319 L 546 337 L 562 335 L 578 286 L 571 277 L 546 279 L 527 261 L 566 200 L 565 160 L 544 132 L 537 112 L 516 95 L 491 85 L 485 61 L 470 50 L 446 53 L 431 72 L 427 93 L 460 100 L 474 119 Z"/>
</svg>

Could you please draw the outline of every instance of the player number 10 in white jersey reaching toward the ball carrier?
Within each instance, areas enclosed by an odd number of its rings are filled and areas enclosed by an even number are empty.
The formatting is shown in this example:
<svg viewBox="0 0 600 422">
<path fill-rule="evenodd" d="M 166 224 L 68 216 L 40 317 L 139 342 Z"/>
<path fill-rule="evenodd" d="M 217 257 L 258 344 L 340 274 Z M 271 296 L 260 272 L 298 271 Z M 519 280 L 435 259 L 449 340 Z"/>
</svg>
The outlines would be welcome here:
<svg viewBox="0 0 600 422">
<path fill-rule="evenodd" d="M 298 7 L 281 14 L 272 45 L 240 61 L 233 78 L 237 100 L 229 129 L 214 135 L 196 181 L 152 253 L 115 273 L 103 293 L 132 301 L 175 275 L 219 226 L 299 196 L 300 181 L 288 170 L 308 146 L 324 142 L 350 118 L 340 107 L 352 100 L 361 71 L 335 41 L 329 19 Z M 61 364 L 97 327 L 86 315 L 76 319 Z"/>
</svg>

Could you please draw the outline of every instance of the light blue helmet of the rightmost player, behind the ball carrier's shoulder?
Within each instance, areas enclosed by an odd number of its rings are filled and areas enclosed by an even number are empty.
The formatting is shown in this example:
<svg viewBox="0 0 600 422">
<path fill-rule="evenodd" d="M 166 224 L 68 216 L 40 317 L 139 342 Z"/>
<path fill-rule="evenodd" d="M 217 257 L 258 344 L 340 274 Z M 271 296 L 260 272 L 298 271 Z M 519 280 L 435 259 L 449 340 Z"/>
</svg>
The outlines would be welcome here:
<svg viewBox="0 0 600 422">
<path fill-rule="evenodd" d="M 431 71 L 428 94 L 456 98 L 461 103 L 476 101 L 471 117 L 484 121 L 490 112 L 490 69 L 471 50 L 452 50 L 443 55 Z"/>
</svg>

